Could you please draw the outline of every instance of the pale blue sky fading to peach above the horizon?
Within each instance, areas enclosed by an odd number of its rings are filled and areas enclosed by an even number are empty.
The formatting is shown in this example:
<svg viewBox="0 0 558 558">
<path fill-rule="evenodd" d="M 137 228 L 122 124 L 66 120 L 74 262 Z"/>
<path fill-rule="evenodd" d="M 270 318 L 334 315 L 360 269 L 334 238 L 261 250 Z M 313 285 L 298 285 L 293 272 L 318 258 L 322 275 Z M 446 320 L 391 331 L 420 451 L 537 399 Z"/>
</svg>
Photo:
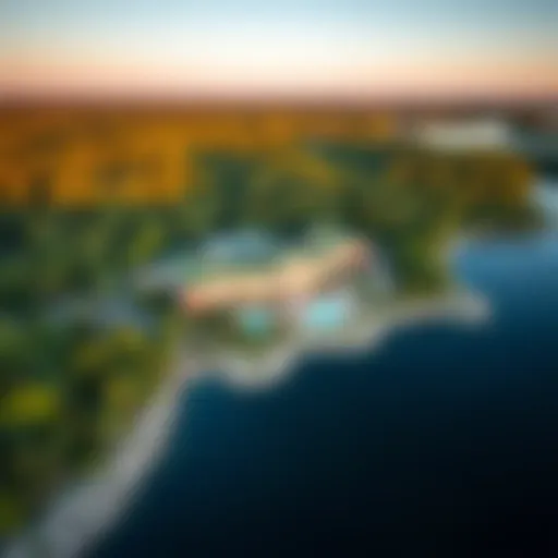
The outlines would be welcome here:
<svg viewBox="0 0 558 558">
<path fill-rule="evenodd" d="M 0 0 L 0 95 L 558 97 L 556 0 Z"/>
</svg>

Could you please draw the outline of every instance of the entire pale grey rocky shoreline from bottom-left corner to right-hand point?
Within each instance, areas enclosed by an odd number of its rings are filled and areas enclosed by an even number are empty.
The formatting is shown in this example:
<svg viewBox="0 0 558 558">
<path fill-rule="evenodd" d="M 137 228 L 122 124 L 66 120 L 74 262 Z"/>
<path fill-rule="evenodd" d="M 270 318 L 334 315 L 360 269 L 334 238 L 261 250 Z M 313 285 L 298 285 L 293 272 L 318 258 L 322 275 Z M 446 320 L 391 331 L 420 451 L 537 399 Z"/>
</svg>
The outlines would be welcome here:
<svg viewBox="0 0 558 558">
<path fill-rule="evenodd" d="M 333 335 L 335 339 L 310 335 L 291 340 L 271 350 L 270 355 L 253 362 L 245 356 L 222 353 L 196 363 L 182 345 L 173 372 L 141 413 L 132 430 L 109 454 L 108 461 L 87 481 L 70 485 L 47 508 L 39 524 L 14 541 L 5 558 L 75 558 L 98 541 L 133 505 L 142 481 L 162 456 L 181 396 L 193 379 L 217 377 L 231 389 L 244 391 L 271 389 L 289 378 L 305 355 L 374 351 L 399 327 L 445 317 L 477 324 L 483 323 L 487 314 L 489 305 L 485 298 L 460 290 L 401 302 L 372 319 L 360 320 L 343 336 Z"/>
</svg>

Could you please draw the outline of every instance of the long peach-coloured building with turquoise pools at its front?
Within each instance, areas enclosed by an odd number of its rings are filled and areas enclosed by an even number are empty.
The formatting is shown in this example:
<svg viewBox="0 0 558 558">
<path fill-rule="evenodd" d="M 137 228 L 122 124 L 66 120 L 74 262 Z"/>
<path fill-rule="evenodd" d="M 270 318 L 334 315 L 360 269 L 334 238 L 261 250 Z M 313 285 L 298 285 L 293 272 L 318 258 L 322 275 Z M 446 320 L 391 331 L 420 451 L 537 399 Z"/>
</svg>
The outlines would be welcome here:
<svg viewBox="0 0 558 558">
<path fill-rule="evenodd" d="M 355 239 L 305 245 L 257 269 L 199 278 L 183 289 L 181 302 L 186 315 L 228 315 L 251 337 L 284 326 L 328 329 L 347 319 L 351 303 L 343 290 L 371 260 L 371 248 Z"/>
</svg>

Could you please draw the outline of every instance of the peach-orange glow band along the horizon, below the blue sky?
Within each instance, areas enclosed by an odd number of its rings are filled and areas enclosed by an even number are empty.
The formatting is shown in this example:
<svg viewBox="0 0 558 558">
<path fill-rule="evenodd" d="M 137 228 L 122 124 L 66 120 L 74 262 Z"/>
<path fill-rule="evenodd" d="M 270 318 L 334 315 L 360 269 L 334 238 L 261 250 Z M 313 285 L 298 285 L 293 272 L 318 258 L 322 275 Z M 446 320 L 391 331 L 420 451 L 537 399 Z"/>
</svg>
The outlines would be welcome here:
<svg viewBox="0 0 558 558">
<path fill-rule="evenodd" d="M 4 98 L 347 98 L 384 97 L 558 97 L 558 68 L 542 61 L 529 66 L 494 63 L 251 69 L 158 68 L 78 61 L 0 63 Z"/>
</svg>

